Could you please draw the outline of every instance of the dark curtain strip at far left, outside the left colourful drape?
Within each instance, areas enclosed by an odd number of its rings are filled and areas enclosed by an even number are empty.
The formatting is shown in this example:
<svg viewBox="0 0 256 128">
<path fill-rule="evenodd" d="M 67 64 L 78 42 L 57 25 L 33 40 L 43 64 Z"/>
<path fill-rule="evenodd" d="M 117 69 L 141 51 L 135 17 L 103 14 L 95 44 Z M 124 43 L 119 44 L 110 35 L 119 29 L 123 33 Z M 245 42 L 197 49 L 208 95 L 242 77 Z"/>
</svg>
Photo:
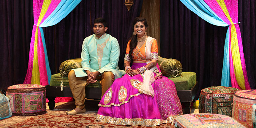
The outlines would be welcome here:
<svg viewBox="0 0 256 128">
<path fill-rule="evenodd" d="M 0 88 L 23 83 L 34 25 L 32 0 L 0 1 Z"/>
</svg>

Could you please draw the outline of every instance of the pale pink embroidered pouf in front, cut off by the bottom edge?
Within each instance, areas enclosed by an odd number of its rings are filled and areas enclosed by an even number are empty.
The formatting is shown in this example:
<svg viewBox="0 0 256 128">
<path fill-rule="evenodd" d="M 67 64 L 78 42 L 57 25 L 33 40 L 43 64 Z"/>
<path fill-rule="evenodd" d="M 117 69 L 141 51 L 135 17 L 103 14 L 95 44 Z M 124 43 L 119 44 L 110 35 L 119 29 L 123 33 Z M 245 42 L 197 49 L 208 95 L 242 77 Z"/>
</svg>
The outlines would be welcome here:
<svg viewBox="0 0 256 128">
<path fill-rule="evenodd" d="M 173 119 L 176 128 L 245 128 L 233 118 L 211 113 L 185 114 Z"/>
</svg>

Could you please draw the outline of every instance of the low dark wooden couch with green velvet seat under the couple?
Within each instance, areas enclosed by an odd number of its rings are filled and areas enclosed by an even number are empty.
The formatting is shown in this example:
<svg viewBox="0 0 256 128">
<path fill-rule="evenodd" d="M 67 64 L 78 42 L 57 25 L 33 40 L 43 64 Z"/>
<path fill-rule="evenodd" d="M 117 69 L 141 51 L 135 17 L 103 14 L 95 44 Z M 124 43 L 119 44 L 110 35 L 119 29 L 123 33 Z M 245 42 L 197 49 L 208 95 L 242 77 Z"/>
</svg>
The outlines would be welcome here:
<svg viewBox="0 0 256 128">
<path fill-rule="evenodd" d="M 180 76 L 168 78 L 175 83 L 177 94 L 183 106 L 183 114 L 190 113 L 191 102 L 193 102 L 198 90 L 196 73 L 182 72 Z M 49 99 L 48 105 L 50 109 L 54 109 L 56 97 L 73 97 L 69 88 L 68 77 L 63 77 L 63 91 L 60 90 L 61 80 L 60 73 L 53 74 L 50 84 L 46 86 L 46 96 Z M 86 87 L 86 98 L 101 99 L 101 85 L 98 81 Z"/>
</svg>

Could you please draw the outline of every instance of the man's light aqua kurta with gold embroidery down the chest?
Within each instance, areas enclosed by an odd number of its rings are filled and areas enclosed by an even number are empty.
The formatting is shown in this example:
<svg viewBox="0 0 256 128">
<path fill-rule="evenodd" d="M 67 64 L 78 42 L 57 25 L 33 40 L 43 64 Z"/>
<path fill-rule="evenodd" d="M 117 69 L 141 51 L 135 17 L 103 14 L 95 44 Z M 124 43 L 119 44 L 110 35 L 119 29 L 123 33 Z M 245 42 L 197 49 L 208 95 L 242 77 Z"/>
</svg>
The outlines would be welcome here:
<svg viewBox="0 0 256 128">
<path fill-rule="evenodd" d="M 93 34 L 86 37 L 82 45 L 82 68 L 73 70 L 76 77 L 87 76 L 84 70 L 100 73 L 111 71 L 117 79 L 121 77 L 118 68 L 119 55 L 120 47 L 116 38 L 106 33 L 100 38 Z"/>
</svg>

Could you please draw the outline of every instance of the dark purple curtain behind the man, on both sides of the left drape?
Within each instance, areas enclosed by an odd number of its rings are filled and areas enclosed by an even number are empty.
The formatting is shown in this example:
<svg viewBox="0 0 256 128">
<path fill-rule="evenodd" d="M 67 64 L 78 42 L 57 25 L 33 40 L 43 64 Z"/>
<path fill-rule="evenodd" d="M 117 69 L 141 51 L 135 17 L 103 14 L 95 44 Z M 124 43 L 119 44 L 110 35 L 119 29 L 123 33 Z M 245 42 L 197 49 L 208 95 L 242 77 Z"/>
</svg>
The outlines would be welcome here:
<svg viewBox="0 0 256 128">
<path fill-rule="evenodd" d="M 95 18 L 108 23 L 106 33 L 120 45 L 119 68 L 124 69 L 124 54 L 131 36 L 132 21 L 140 15 L 142 0 L 133 0 L 130 11 L 123 0 L 82 0 L 61 22 L 43 28 L 51 73 L 59 73 L 61 62 L 80 58 L 85 37 L 94 34 Z M 29 46 L 33 28 L 32 0 L 0 1 L 0 89 L 22 84 L 28 67 Z"/>
</svg>

